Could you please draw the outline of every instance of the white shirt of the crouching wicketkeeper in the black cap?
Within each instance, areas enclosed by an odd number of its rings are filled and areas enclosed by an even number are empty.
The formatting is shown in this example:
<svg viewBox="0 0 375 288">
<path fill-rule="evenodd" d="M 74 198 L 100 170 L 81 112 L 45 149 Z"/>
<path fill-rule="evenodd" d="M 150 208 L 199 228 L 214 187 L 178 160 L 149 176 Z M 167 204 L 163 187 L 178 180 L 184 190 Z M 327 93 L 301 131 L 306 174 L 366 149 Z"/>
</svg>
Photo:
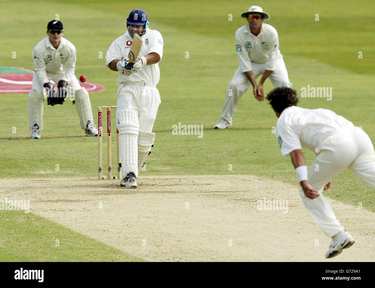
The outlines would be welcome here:
<svg viewBox="0 0 375 288">
<path fill-rule="evenodd" d="M 40 41 L 33 50 L 34 72 L 40 83 L 49 82 L 46 72 L 64 73 L 62 80 L 69 83 L 71 78 L 75 77 L 76 54 L 74 45 L 63 37 L 57 49 L 53 47 L 48 37 Z"/>
</svg>

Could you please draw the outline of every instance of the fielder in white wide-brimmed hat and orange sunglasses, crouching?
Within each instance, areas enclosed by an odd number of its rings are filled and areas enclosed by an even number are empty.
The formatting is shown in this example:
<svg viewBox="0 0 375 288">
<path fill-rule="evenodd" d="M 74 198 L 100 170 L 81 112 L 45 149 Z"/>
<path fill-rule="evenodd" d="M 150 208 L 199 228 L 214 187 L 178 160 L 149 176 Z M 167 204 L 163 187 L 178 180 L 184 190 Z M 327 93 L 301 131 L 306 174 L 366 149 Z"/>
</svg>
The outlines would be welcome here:
<svg viewBox="0 0 375 288">
<path fill-rule="evenodd" d="M 241 96 L 253 86 L 254 96 L 263 101 L 263 83 L 270 78 L 275 87 L 292 87 L 288 78 L 283 56 L 279 50 L 279 36 L 276 29 L 263 23 L 270 15 L 259 6 L 251 6 L 241 15 L 248 23 L 237 29 L 236 51 L 240 66 L 234 73 L 226 93 L 221 119 L 214 128 L 232 127 L 232 116 Z M 263 74 L 257 84 L 256 78 Z"/>
</svg>

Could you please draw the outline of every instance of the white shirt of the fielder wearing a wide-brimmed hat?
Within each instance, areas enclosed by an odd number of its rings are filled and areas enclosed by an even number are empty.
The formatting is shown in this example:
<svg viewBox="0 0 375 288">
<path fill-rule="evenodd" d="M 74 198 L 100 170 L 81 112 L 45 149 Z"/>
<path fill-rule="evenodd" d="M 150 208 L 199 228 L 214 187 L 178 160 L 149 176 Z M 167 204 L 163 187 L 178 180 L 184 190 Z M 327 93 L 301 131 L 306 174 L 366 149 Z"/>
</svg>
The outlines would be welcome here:
<svg viewBox="0 0 375 288">
<path fill-rule="evenodd" d="M 278 32 L 266 23 L 257 36 L 251 33 L 249 24 L 237 29 L 236 51 L 242 72 L 252 71 L 251 61 L 267 63 L 266 70 L 274 71 L 276 59 L 282 59 Z"/>
</svg>

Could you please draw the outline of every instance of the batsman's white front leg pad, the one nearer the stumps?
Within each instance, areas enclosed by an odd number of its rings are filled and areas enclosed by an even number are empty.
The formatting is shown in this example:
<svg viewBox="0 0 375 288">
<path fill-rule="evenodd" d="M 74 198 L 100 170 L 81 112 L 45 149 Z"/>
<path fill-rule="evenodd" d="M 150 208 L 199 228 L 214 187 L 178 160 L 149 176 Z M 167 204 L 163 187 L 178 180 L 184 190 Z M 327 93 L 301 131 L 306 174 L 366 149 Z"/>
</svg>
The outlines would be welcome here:
<svg viewBox="0 0 375 288">
<path fill-rule="evenodd" d="M 117 130 L 120 138 L 121 178 L 130 172 L 138 177 L 138 113 L 130 109 L 117 111 Z"/>
</svg>

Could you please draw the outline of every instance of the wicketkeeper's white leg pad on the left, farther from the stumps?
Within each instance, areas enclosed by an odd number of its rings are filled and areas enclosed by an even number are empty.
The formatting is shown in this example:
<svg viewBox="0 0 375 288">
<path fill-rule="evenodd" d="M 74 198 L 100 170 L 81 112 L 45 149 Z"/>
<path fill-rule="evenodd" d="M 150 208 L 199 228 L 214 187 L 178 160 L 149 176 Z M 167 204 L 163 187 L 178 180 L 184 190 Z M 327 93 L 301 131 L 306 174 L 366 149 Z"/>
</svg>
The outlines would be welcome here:
<svg viewBox="0 0 375 288">
<path fill-rule="evenodd" d="M 28 119 L 29 128 L 32 130 L 34 124 L 38 124 L 39 130 L 43 129 L 43 90 L 31 89 L 28 92 Z"/>
</svg>

